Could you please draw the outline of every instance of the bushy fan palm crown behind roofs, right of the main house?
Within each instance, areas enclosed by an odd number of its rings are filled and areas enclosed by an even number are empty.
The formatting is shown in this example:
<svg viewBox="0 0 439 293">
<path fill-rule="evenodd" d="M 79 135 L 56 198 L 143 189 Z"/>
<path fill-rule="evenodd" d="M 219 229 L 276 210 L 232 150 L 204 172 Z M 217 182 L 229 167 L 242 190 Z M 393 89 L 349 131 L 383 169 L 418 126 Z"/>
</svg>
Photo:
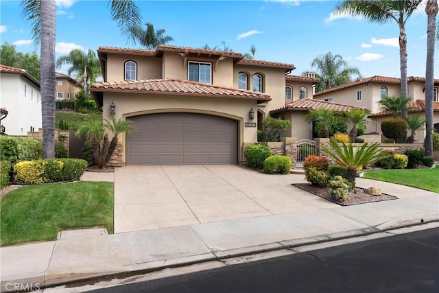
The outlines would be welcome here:
<svg viewBox="0 0 439 293">
<path fill-rule="evenodd" d="M 348 62 L 343 60 L 341 55 L 333 55 L 331 52 L 314 58 L 311 67 L 316 69 L 316 78 L 322 80 L 316 86 L 316 91 L 346 84 L 351 82 L 355 76 L 361 78 L 361 73 L 357 67 L 349 67 Z"/>
</svg>

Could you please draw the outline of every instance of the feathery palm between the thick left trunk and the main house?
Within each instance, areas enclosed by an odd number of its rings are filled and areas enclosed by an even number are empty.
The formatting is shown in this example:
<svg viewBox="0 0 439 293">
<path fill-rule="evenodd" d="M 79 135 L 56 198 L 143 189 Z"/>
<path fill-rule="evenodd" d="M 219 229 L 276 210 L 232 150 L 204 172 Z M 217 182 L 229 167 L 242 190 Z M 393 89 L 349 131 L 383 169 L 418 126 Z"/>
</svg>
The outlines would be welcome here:
<svg viewBox="0 0 439 293">
<path fill-rule="evenodd" d="M 75 73 L 78 79 L 82 80 L 82 86 L 87 95 L 90 94 L 90 84 L 95 82 L 96 78 L 101 75 L 99 60 L 93 50 L 88 49 L 87 53 L 81 49 L 73 49 L 67 56 L 60 56 L 56 60 L 56 68 L 60 69 L 62 65 L 69 64 L 67 74 Z"/>
</svg>

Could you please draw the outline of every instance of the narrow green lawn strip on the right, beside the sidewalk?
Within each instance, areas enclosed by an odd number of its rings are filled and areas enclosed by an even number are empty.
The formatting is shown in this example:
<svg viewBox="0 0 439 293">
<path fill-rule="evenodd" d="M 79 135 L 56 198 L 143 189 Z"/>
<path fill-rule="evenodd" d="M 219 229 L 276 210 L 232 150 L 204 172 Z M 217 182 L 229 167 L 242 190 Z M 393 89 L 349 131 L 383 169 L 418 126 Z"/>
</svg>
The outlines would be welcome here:
<svg viewBox="0 0 439 293">
<path fill-rule="evenodd" d="M 439 193 L 439 165 L 433 169 L 388 169 L 368 171 L 364 178 L 398 183 Z"/>
</svg>

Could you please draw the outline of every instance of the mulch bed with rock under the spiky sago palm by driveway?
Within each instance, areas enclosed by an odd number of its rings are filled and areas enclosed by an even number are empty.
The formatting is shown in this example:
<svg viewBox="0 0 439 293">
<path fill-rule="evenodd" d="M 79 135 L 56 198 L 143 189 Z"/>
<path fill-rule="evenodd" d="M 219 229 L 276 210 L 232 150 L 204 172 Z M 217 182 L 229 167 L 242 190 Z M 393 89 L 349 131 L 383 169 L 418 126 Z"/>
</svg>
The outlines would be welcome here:
<svg viewBox="0 0 439 293">
<path fill-rule="evenodd" d="M 314 194 L 316 196 L 320 196 L 320 198 L 324 198 L 325 200 L 329 200 L 330 202 L 335 202 L 336 204 L 340 204 L 342 206 L 397 199 L 396 196 L 391 196 L 390 194 L 381 194 L 381 196 L 372 196 L 367 193 L 366 189 L 361 187 L 356 187 L 353 191 L 350 192 L 347 200 L 345 200 L 344 202 L 340 202 L 338 200 L 333 200 L 331 194 L 329 194 L 329 190 L 327 187 L 318 187 L 311 185 L 309 183 L 296 183 L 292 185 L 294 187 L 308 191 L 309 193 Z"/>
</svg>

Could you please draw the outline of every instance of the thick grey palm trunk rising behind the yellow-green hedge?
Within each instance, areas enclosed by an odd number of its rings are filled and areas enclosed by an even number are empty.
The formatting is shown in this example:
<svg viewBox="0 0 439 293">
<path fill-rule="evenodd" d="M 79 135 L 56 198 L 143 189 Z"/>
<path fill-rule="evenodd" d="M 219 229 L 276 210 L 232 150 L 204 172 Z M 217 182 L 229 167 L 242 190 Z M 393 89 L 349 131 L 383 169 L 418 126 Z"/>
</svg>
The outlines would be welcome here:
<svg viewBox="0 0 439 293">
<path fill-rule="evenodd" d="M 55 0 L 41 1 L 41 114 L 43 159 L 55 158 Z"/>
</svg>

